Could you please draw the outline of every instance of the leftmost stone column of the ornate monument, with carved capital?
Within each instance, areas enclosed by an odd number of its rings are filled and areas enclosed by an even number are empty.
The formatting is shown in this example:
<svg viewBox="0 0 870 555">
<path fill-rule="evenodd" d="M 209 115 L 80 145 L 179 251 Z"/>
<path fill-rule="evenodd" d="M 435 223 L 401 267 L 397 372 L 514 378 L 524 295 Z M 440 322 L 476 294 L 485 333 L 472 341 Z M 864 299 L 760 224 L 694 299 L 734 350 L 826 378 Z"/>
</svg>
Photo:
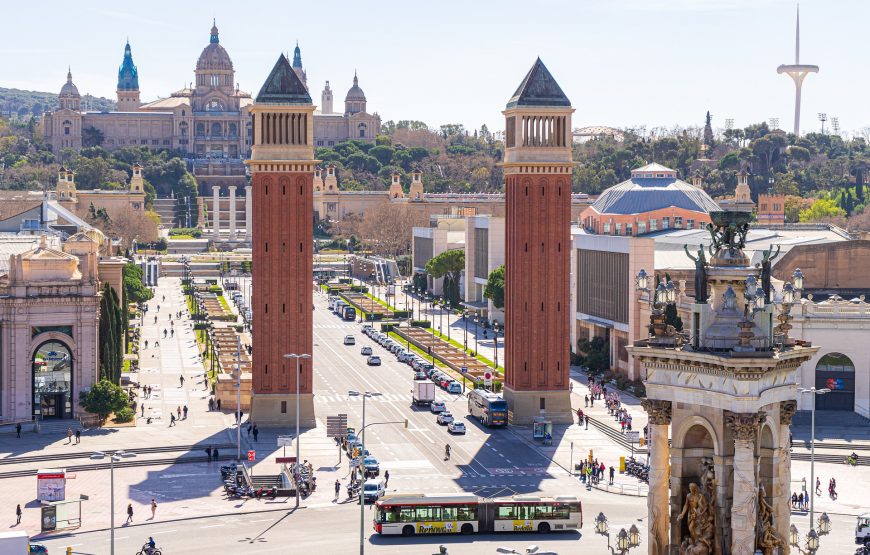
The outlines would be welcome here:
<svg viewBox="0 0 870 555">
<path fill-rule="evenodd" d="M 645 399 L 641 402 L 649 416 L 649 553 L 665 553 L 668 545 L 669 463 L 668 427 L 671 425 L 671 402 Z"/>
</svg>

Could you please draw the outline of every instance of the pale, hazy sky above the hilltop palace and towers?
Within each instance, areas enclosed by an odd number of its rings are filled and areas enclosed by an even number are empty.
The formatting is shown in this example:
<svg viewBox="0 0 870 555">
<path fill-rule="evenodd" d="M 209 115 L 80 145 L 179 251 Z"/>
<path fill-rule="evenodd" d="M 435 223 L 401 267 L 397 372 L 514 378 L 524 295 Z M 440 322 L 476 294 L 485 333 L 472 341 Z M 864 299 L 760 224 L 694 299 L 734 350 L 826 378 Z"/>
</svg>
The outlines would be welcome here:
<svg viewBox="0 0 870 555">
<path fill-rule="evenodd" d="M 487 124 L 540 56 L 576 112 L 575 127 L 736 126 L 780 118 L 790 129 L 795 3 L 785 0 L 333 0 L 4 3 L 0 86 L 115 97 L 130 38 L 143 100 L 193 80 L 212 17 L 243 90 L 259 90 L 296 41 L 315 103 L 329 80 L 338 108 L 354 69 L 384 121 Z M 816 114 L 844 131 L 870 126 L 866 0 L 804 0 L 802 129 Z M 828 124 L 830 125 L 830 123 Z"/>
</svg>

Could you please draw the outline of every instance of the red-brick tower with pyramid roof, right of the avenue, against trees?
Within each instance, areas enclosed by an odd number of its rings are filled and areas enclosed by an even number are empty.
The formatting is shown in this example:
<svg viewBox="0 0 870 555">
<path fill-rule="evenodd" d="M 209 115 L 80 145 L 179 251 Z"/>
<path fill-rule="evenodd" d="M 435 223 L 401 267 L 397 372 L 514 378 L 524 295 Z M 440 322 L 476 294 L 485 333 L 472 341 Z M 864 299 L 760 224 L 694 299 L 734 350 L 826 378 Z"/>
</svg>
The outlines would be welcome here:
<svg viewBox="0 0 870 555">
<path fill-rule="evenodd" d="M 570 423 L 571 102 L 540 58 L 505 115 L 505 399 Z"/>
</svg>

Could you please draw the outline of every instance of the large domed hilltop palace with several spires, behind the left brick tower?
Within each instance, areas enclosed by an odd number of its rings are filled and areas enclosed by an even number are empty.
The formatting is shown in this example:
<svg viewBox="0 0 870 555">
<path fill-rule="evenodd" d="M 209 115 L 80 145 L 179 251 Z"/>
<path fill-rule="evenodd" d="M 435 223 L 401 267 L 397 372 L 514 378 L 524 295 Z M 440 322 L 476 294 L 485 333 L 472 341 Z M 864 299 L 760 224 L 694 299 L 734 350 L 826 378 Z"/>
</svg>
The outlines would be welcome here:
<svg viewBox="0 0 870 555">
<path fill-rule="evenodd" d="M 307 88 L 298 45 L 292 67 Z M 217 25 L 211 28 L 194 75 L 190 86 L 142 103 L 139 68 L 127 42 L 118 69 L 117 110 L 86 110 L 72 71 L 68 71 L 59 95 L 60 107 L 42 118 L 45 142 L 57 153 L 96 145 L 107 150 L 131 146 L 172 149 L 187 158 L 201 194 L 207 195 L 214 187 L 243 186 L 247 181 L 243 161 L 251 151 L 248 109 L 253 101 L 235 81 L 233 61 L 221 45 Z M 333 111 L 328 81 L 321 98 L 323 106 L 314 115 L 314 146 L 334 146 L 348 139 L 375 141 L 381 119 L 366 111 L 366 96 L 356 74 L 343 112 Z"/>
</svg>

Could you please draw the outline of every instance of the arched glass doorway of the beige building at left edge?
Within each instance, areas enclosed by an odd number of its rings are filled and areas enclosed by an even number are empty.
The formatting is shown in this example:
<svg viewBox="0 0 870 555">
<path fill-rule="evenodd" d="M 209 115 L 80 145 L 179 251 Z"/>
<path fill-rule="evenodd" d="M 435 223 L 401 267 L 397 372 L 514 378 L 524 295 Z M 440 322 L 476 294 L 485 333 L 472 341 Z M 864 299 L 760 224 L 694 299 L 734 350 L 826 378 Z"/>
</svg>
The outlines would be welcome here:
<svg viewBox="0 0 870 555">
<path fill-rule="evenodd" d="M 72 353 L 61 341 L 42 343 L 33 353 L 33 415 L 72 418 Z"/>
</svg>

